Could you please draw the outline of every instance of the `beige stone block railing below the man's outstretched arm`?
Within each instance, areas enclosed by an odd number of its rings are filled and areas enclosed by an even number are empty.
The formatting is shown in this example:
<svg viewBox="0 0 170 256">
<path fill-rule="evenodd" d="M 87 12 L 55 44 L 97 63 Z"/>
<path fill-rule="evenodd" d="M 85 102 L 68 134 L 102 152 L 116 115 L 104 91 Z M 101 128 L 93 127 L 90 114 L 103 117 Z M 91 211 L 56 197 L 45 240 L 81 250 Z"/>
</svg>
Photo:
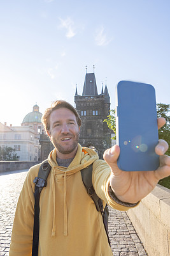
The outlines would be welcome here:
<svg viewBox="0 0 170 256">
<path fill-rule="evenodd" d="M 127 214 L 149 256 L 170 255 L 170 189 L 157 185 Z"/>
</svg>

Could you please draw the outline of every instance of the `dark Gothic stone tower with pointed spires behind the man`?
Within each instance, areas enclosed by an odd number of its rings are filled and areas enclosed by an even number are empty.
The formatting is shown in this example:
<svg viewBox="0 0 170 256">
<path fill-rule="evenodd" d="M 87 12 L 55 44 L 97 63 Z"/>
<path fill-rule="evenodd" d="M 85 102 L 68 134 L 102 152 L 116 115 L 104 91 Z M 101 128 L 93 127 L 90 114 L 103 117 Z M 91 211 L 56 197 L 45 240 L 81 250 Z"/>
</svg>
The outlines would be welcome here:
<svg viewBox="0 0 170 256">
<path fill-rule="evenodd" d="M 104 92 L 102 86 L 101 94 L 98 94 L 95 74 L 86 74 L 82 96 L 78 95 L 76 88 L 74 102 L 81 118 L 81 146 L 96 148 L 99 158 L 103 159 L 104 150 L 111 147 L 111 130 L 106 122 L 103 122 L 110 114 L 107 86 Z"/>
</svg>

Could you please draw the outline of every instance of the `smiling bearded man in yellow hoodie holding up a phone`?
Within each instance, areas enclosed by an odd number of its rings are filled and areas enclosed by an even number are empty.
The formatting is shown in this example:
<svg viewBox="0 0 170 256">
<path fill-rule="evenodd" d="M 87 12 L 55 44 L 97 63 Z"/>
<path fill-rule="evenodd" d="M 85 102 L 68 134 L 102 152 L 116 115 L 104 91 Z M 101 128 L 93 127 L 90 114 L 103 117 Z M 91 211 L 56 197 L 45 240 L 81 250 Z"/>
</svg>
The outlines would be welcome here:
<svg viewBox="0 0 170 256">
<path fill-rule="evenodd" d="M 52 170 L 39 201 L 39 254 L 41 256 L 109 256 L 108 244 L 100 212 L 83 185 L 80 170 L 93 164 L 92 182 L 104 204 L 120 211 L 139 204 L 156 186 L 159 179 L 170 175 L 170 157 L 164 156 L 168 145 L 159 141 L 160 155 L 156 171 L 124 172 L 118 169 L 120 148 L 116 145 L 97 153 L 78 144 L 81 120 L 69 103 L 57 100 L 46 109 L 43 125 L 55 149 L 48 156 Z M 158 120 L 161 127 L 164 118 Z M 34 183 L 40 164 L 33 166 L 25 179 L 18 199 L 10 256 L 30 256 L 34 222 Z"/>
</svg>

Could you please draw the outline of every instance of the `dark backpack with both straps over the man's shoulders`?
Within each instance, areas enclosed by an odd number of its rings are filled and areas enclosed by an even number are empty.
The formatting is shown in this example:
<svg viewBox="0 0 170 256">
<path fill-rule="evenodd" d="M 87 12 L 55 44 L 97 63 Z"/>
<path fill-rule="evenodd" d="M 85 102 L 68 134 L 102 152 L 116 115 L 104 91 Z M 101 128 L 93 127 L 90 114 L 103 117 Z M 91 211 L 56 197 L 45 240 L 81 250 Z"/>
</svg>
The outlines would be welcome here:
<svg viewBox="0 0 170 256">
<path fill-rule="evenodd" d="M 34 231 L 33 231 L 33 241 L 32 241 L 32 256 L 38 256 L 38 243 L 39 243 L 39 195 L 41 190 L 46 186 L 46 179 L 50 173 L 52 166 L 48 164 L 48 161 L 45 160 L 41 164 L 38 172 L 38 177 L 34 179 L 35 183 L 35 205 L 34 205 Z M 108 237 L 108 243 L 110 244 L 110 239 L 108 236 L 108 205 L 103 207 L 103 202 L 99 196 L 97 196 L 93 184 L 92 184 L 92 164 L 86 168 L 80 170 L 81 178 L 83 184 L 87 190 L 88 195 L 92 198 L 96 205 L 97 211 L 100 211 L 103 217 L 103 224 L 106 230 L 106 235 Z"/>
</svg>

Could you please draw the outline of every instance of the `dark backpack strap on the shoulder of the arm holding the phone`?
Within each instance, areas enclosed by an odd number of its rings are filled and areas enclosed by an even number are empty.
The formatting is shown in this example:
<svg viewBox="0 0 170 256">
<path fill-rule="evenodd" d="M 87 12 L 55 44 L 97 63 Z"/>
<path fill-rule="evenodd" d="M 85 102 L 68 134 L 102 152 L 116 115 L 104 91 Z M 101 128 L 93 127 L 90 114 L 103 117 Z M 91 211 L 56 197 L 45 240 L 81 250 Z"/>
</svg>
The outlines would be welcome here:
<svg viewBox="0 0 170 256">
<path fill-rule="evenodd" d="M 108 236 L 108 216 L 109 216 L 108 205 L 106 205 L 105 208 L 103 207 L 103 202 L 101 198 L 97 196 L 96 191 L 94 190 L 94 187 L 92 184 L 92 170 L 93 170 L 93 166 L 92 164 L 90 164 L 89 166 L 81 170 L 81 177 L 83 180 L 83 184 L 87 189 L 88 195 L 92 198 L 92 200 L 94 201 L 94 204 L 96 205 L 97 211 L 100 211 L 102 214 L 104 228 L 106 230 L 106 235 L 108 237 L 108 243 L 110 244 L 110 238 Z"/>
</svg>

